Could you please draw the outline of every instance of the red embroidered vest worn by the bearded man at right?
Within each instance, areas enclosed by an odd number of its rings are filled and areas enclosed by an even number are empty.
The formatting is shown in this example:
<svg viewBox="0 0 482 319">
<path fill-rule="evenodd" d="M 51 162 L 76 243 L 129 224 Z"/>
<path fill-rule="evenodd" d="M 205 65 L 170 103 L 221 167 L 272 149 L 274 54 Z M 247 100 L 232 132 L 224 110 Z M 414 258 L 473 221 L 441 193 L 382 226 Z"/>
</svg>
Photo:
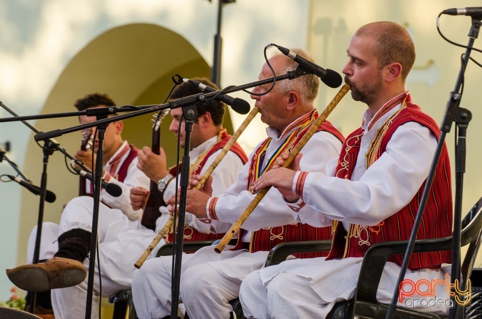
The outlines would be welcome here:
<svg viewBox="0 0 482 319">
<path fill-rule="evenodd" d="M 440 130 L 434 120 L 423 113 L 418 105 L 412 104 L 410 96 L 407 96 L 406 107 L 386 122 L 386 131 L 380 133 L 377 139 L 380 144 L 371 152 L 372 158 L 368 157 L 368 165 L 373 164 L 383 152 L 392 134 L 396 129 L 407 122 L 415 121 L 428 127 L 437 138 Z M 382 130 L 380 130 L 382 131 Z M 350 179 L 356 163 L 356 157 L 360 148 L 360 138 L 363 129 L 359 128 L 351 133 L 343 144 L 340 159 L 338 161 L 337 177 Z M 367 154 L 369 155 L 369 154 Z M 340 163 L 343 162 L 343 165 Z M 348 164 L 346 166 L 346 164 Z M 383 220 L 376 226 L 351 225 L 348 232 L 342 223 L 333 221 L 333 243 L 327 259 L 345 257 L 363 257 L 365 252 L 374 244 L 387 241 L 408 240 L 412 231 L 413 223 L 418 211 L 419 202 L 425 187 L 425 182 L 407 206 Z M 380 207 L 383 209 L 383 207 Z M 440 160 L 436 168 L 432 191 L 427 200 L 427 206 L 423 212 L 423 218 L 417 233 L 417 239 L 440 238 L 451 236 L 452 231 L 452 194 L 450 182 L 450 164 L 447 147 L 444 143 Z M 409 269 L 439 268 L 442 263 L 450 263 L 450 250 L 415 253 L 412 254 L 408 265 Z M 389 261 L 402 265 L 403 255 L 395 255 Z"/>
</svg>

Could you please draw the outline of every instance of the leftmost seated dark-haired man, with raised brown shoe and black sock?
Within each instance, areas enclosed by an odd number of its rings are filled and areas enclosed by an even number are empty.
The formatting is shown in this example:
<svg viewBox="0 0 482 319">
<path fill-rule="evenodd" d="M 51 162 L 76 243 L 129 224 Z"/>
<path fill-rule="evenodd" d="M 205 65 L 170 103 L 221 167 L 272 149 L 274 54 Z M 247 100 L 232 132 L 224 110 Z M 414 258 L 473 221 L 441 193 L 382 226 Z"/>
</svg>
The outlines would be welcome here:
<svg viewBox="0 0 482 319">
<path fill-rule="evenodd" d="M 108 95 L 99 93 L 89 94 L 75 102 L 75 107 L 79 111 L 108 106 L 115 106 L 114 101 Z M 81 124 L 95 120 L 95 116 L 79 116 Z M 100 252 L 104 241 L 110 240 L 118 233 L 140 227 L 139 219 L 142 211 L 132 208 L 129 193 L 134 186 L 149 185 L 149 179 L 137 169 L 137 148 L 122 138 L 123 127 L 122 121 L 114 121 L 107 126 L 104 134 L 103 179 L 119 186 L 122 194 L 114 197 L 104 189 L 100 192 L 98 218 Z M 92 141 L 93 147 L 80 149 L 74 155 L 91 171 L 92 151 L 95 163 L 98 136 L 93 137 Z M 75 286 L 84 280 L 86 282 L 86 269 L 89 264 L 89 259 L 86 257 L 90 250 L 93 211 L 90 181 L 86 181 L 84 187 L 85 189 L 80 190 L 80 193 L 90 196 L 80 196 L 70 200 L 62 211 L 59 225 L 43 224 L 40 260 L 44 262 L 7 269 L 10 280 L 18 287 L 38 292 L 34 311 L 38 315 L 49 317 L 54 311 L 57 318 L 72 318 L 82 317 L 82 313 L 85 313 L 86 285 Z M 27 260 L 30 261 L 33 258 L 36 234 L 35 228 L 29 240 Z M 115 267 L 115 261 L 104 258 L 101 263 L 102 271 L 109 271 L 111 267 Z M 55 289 L 68 286 L 75 286 L 75 288 Z M 109 291 L 108 287 L 108 280 L 102 280 L 103 291 Z M 51 289 L 55 289 L 52 290 L 52 304 Z M 64 295 L 69 297 L 64 299 Z"/>
</svg>

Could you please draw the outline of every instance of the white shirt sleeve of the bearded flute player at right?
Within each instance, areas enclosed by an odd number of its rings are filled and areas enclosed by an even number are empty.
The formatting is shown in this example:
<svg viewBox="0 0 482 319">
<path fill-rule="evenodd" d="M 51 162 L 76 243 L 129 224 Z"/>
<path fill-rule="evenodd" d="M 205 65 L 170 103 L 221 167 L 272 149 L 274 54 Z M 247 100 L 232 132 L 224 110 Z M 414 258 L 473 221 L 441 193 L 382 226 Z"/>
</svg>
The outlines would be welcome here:
<svg viewBox="0 0 482 319">
<path fill-rule="evenodd" d="M 426 180 L 437 139 L 427 127 L 408 122 L 358 181 L 308 173 L 298 220 L 318 225 L 324 215 L 343 223 L 373 226 L 405 207 Z M 297 174 L 298 176 L 298 174 Z M 296 185 L 296 178 L 293 187 Z"/>
</svg>

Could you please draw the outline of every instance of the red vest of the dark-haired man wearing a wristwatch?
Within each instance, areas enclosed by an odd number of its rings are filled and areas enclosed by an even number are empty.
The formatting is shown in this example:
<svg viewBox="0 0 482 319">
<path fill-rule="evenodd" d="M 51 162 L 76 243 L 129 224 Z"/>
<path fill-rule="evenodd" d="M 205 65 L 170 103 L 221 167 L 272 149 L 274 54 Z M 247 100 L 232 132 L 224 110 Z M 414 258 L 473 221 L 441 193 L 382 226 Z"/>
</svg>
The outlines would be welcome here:
<svg viewBox="0 0 482 319">
<path fill-rule="evenodd" d="M 217 150 L 223 148 L 230 138 L 231 138 L 231 135 L 228 135 L 226 133 L 226 130 L 221 131 L 221 139 L 208 150 L 208 152 L 201 159 L 199 164 L 195 168 L 193 168 L 193 171 L 191 172 L 191 174 L 200 174 L 209 156 L 211 156 L 211 154 L 213 154 Z M 241 146 L 239 146 L 238 143 L 234 143 L 229 150 L 233 151 L 236 155 L 238 155 L 239 158 L 241 158 L 241 160 L 243 161 L 243 164 L 246 164 L 248 162 L 248 156 L 246 156 L 245 151 L 243 150 L 243 148 L 241 148 Z M 173 176 L 176 176 L 177 172 L 180 172 L 180 170 L 181 170 L 181 164 L 179 164 L 177 167 L 176 166 L 173 167 L 169 171 L 169 173 L 172 174 Z M 205 220 L 205 222 L 209 223 L 210 221 Z M 169 235 L 166 238 L 166 242 L 168 243 L 172 242 L 173 236 L 174 234 L 171 229 L 171 231 L 169 232 Z M 203 234 L 203 233 L 200 233 L 197 229 L 187 224 L 184 224 L 184 237 L 183 237 L 184 241 L 214 240 L 214 239 L 220 239 L 223 236 L 224 234 L 212 234 L 212 233 Z"/>
</svg>

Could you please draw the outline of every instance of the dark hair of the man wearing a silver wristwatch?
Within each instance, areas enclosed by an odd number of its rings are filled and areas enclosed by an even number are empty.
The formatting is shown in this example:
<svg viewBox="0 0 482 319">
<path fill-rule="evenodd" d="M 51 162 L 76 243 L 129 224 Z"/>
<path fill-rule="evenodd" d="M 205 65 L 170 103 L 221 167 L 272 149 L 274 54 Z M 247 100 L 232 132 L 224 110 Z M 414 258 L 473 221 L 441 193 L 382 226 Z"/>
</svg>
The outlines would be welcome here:
<svg viewBox="0 0 482 319">
<path fill-rule="evenodd" d="M 210 86 L 213 89 L 219 90 L 216 84 L 212 83 L 206 78 L 192 78 L 192 80 L 201 82 L 202 84 Z M 198 86 L 193 85 L 190 82 L 183 82 L 174 88 L 169 99 L 174 100 L 198 93 L 203 93 L 203 91 Z M 214 123 L 214 125 L 217 126 L 222 124 L 222 119 L 224 113 L 226 112 L 226 104 L 221 101 L 214 101 L 211 103 L 197 104 L 196 109 L 198 118 L 201 117 L 204 113 L 209 112 L 211 114 L 212 122 Z"/>
</svg>

